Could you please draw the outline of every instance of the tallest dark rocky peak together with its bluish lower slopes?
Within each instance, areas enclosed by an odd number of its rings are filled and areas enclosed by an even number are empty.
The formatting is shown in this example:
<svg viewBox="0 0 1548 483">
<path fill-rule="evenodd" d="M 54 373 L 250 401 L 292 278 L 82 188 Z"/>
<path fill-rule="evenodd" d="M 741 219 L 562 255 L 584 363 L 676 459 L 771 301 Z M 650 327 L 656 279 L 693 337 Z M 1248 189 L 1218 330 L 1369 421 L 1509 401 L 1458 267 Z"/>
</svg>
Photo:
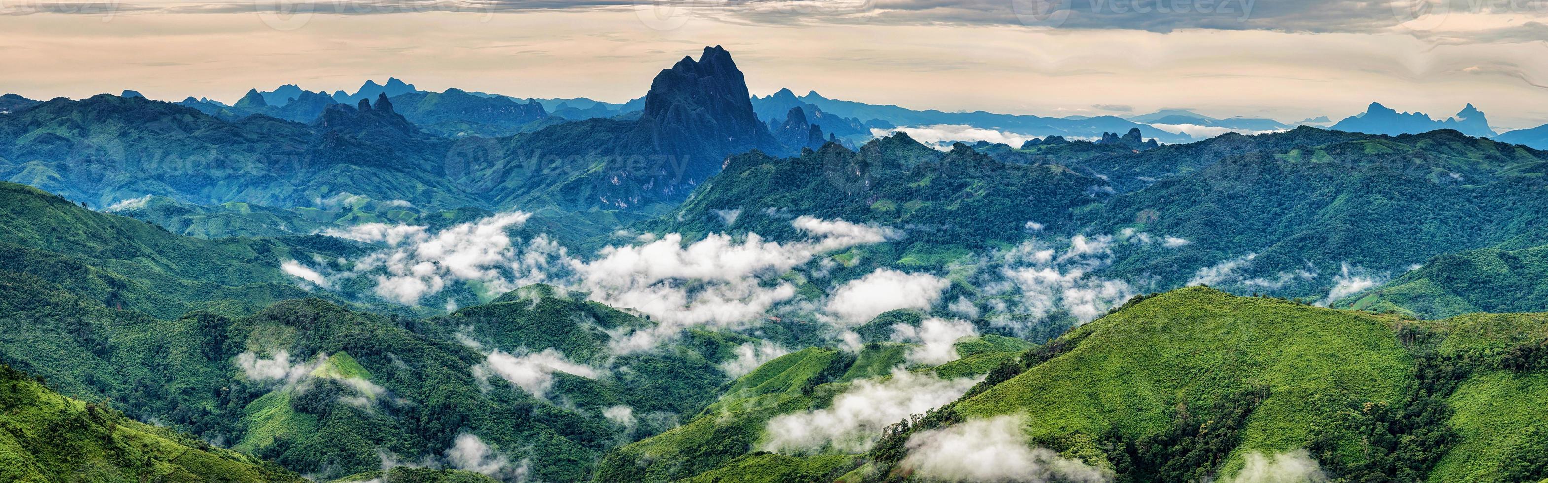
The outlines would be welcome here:
<svg viewBox="0 0 1548 483">
<path fill-rule="evenodd" d="M 803 139 L 811 136 L 805 122 Z M 759 119 L 746 79 L 720 46 L 683 57 L 650 84 L 635 115 L 562 122 L 519 133 L 464 180 L 502 190 L 506 206 L 632 211 L 675 204 L 721 170 L 731 155 L 794 155 Z"/>
</svg>

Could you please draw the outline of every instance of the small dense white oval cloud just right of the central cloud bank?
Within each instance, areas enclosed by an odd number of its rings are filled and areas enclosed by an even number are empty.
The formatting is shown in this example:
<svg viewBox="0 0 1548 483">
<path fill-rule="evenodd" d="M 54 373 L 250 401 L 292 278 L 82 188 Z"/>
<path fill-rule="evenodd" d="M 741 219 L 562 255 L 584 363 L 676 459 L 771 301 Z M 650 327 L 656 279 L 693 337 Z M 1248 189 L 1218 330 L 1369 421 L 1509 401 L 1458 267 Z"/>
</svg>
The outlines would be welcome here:
<svg viewBox="0 0 1548 483">
<path fill-rule="evenodd" d="M 825 310 L 839 320 L 858 325 L 898 308 L 927 310 L 940 302 L 950 282 L 932 274 L 909 274 L 890 268 L 851 280 L 833 291 Z"/>
</svg>

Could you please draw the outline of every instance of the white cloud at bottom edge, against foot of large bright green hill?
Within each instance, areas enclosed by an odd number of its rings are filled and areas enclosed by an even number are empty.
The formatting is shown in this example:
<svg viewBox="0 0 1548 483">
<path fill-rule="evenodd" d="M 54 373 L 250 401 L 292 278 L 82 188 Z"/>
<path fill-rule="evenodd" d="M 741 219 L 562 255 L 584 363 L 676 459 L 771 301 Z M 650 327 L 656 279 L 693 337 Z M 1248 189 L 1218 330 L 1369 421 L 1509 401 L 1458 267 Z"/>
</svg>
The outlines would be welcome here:
<svg viewBox="0 0 1548 483">
<path fill-rule="evenodd" d="M 1022 418 L 972 420 L 909 438 L 898 464 L 941 481 L 1108 481 L 1111 477 L 1046 447 L 1033 447 Z"/>
</svg>

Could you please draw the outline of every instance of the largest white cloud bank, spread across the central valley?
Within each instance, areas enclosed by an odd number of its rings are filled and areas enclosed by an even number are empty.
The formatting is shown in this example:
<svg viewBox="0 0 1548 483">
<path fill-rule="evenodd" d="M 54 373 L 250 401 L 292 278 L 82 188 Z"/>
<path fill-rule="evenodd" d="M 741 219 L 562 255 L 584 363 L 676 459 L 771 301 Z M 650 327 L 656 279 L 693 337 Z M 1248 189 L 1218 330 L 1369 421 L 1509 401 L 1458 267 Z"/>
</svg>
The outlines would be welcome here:
<svg viewBox="0 0 1548 483">
<path fill-rule="evenodd" d="M 732 215 L 740 212 L 728 212 L 728 223 L 734 221 Z M 314 283 L 372 277 L 376 296 L 406 305 L 418 305 L 458 282 L 478 282 L 475 286 L 485 291 L 481 296 L 531 283 L 573 288 L 587 293 L 591 300 L 635 310 L 656 322 L 649 328 L 613 333 L 611 348 L 622 355 L 652 350 L 689 327 L 751 327 L 776 305 L 796 297 L 796 285 L 780 279 L 786 272 L 820 254 L 904 235 L 885 226 L 796 217 L 789 220 L 791 228 L 805 238 L 794 242 L 769 242 L 759 234 L 709 234 L 684 245 L 681 234 L 666 234 L 576 259 L 548 235 L 540 234 L 523 243 L 509 234 L 529 217 L 525 212 L 500 214 L 438 232 L 384 223 L 330 229 L 324 234 L 385 248 L 336 276 L 307 272 L 299 265 L 288 271 Z M 437 303 L 443 305 L 447 310 L 455 307 Z"/>
</svg>

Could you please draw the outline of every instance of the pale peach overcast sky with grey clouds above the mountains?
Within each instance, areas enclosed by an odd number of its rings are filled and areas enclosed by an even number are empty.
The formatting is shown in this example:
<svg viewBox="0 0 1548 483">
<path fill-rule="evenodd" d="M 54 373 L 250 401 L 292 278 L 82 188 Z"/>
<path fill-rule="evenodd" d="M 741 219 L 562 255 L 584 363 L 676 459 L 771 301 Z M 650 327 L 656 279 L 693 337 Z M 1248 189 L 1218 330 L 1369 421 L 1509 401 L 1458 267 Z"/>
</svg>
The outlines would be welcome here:
<svg viewBox="0 0 1548 483">
<path fill-rule="evenodd" d="M 1548 122 L 1548 0 L 0 0 L 0 93 L 34 99 L 232 102 L 396 76 L 621 102 L 724 45 L 754 94 L 1280 121 L 1472 102 L 1497 127 Z"/>
</svg>

